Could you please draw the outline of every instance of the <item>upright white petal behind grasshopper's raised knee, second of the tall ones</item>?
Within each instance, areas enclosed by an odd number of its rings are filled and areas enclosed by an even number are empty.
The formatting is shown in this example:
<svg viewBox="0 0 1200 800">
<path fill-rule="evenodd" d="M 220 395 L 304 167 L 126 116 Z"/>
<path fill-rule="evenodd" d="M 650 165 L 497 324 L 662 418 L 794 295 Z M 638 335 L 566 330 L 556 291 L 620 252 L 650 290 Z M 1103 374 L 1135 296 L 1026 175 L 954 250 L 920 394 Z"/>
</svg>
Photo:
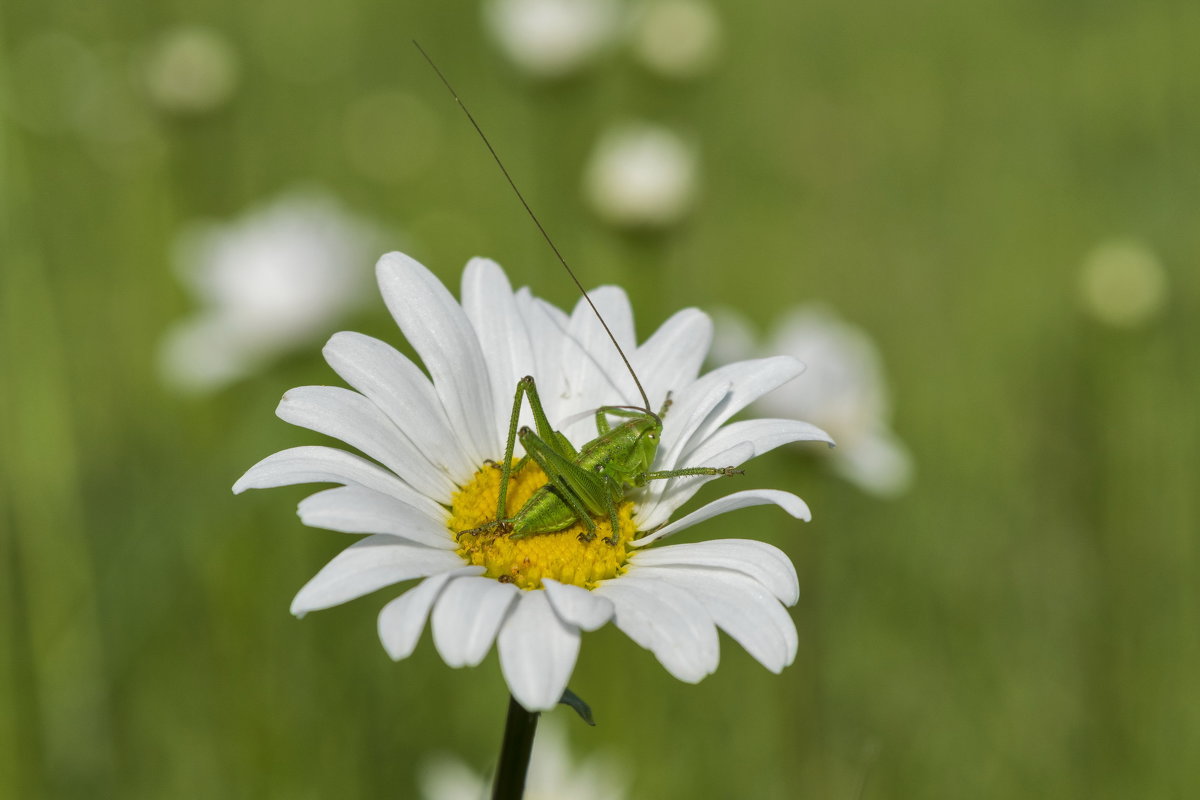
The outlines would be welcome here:
<svg viewBox="0 0 1200 800">
<path fill-rule="evenodd" d="M 467 263 L 462 276 L 462 308 L 484 349 L 492 381 L 496 429 L 504 435 L 509 429 L 517 381 L 533 375 L 536 365 L 512 287 L 496 261 L 473 258 Z M 522 423 L 533 425 L 528 404 Z"/>
</svg>

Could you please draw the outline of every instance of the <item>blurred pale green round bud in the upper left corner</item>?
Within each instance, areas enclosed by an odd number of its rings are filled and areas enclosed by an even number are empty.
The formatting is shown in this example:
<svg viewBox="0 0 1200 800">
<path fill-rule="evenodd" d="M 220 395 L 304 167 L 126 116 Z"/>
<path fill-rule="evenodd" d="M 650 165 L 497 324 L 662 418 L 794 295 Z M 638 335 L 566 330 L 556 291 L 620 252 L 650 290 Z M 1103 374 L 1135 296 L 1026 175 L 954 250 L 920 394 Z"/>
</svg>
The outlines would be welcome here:
<svg viewBox="0 0 1200 800">
<path fill-rule="evenodd" d="M 240 71 L 238 54 L 220 32 L 185 25 L 163 34 L 145 59 L 150 100 L 176 114 L 202 114 L 233 96 Z"/>
</svg>

